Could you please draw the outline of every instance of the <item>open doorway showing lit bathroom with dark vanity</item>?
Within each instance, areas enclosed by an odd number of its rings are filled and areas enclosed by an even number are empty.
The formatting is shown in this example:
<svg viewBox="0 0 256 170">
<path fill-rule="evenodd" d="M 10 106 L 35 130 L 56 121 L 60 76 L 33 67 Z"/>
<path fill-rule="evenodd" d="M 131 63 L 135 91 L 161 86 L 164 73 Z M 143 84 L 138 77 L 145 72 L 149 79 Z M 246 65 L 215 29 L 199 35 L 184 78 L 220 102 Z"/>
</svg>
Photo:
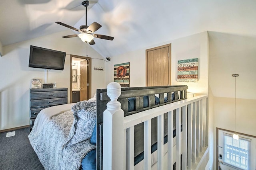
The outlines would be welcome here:
<svg viewBox="0 0 256 170">
<path fill-rule="evenodd" d="M 70 103 L 91 98 L 91 58 L 70 55 Z"/>
</svg>

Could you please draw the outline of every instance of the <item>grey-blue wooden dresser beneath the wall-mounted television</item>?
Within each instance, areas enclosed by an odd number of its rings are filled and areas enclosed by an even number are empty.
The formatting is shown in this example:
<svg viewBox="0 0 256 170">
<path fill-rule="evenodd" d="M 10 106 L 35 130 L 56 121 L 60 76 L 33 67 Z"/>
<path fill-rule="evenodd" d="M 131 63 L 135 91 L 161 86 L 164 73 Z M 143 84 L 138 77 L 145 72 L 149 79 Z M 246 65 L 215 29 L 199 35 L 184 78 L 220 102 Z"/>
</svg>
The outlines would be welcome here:
<svg viewBox="0 0 256 170">
<path fill-rule="evenodd" d="M 38 113 L 50 106 L 68 103 L 68 88 L 30 89 L 30 131 Z"/>
</svg>

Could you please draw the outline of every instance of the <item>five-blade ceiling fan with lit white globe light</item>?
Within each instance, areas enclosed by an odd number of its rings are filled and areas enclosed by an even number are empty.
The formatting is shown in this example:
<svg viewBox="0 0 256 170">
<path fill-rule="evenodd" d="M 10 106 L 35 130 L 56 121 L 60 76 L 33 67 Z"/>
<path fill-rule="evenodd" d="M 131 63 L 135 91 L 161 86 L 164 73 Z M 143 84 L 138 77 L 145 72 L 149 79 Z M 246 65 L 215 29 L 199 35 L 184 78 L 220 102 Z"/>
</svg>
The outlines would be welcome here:
<svg viewBox="0 0 256 170">
<path fill-rule="evenodd" d="M 82 2 L 82 5 L 86 7 L 86 22 L 85 25 L 81 25 L 79 29 L 72 27 L 70 25 L 67 25 L 65 23 L 59 22 L 57 21 L 56 23 L 63 25 L 64 27 L 68 27 L 70 29 L 73 29 L 75 31 L 80 32 L 80 34 L 73 34 L 73 35 L 66 35 L 63 36 L 63 38 L 72 38 L 72 37 L 79 37 L 83 42 L 85 43 L 89 43 L 90 45 L 94 45 L 95 42 L 93 40 L 93 38 L 100 38 L 100 39 L 106 39 L 106 40 L 113 40 L 114 37 L 110 37 L 108 35 L 100 35 L 100 34 L 92 34 L 95 31 L 97 31 L 98 29 L 100 29 L 100 27 L 102 27 L 102 25 L 100 25 L 97 22 L 92 23 L 91 25 L 87 25 L 87 6 L 89 6 L 89 1 L 86 0 L 84 2 Z"/>
</svg>

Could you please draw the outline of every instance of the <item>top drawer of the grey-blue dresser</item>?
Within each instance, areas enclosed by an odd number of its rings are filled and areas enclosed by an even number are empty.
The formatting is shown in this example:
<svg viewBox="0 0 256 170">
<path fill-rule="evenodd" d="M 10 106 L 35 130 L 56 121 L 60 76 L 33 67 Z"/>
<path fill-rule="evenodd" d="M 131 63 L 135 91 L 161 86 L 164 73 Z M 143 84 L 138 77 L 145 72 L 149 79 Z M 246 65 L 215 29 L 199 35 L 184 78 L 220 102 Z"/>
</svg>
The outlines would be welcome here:
<svg viewBox="0 0 256 170">
<path fill-rule="evenodd" d="M 32 93 L 30 93 L 30 100 L 65 98 L 65 97 L 68 97 L 67 91 L 50 91 L 50 92 L 32 92 Z"/>
</svg>

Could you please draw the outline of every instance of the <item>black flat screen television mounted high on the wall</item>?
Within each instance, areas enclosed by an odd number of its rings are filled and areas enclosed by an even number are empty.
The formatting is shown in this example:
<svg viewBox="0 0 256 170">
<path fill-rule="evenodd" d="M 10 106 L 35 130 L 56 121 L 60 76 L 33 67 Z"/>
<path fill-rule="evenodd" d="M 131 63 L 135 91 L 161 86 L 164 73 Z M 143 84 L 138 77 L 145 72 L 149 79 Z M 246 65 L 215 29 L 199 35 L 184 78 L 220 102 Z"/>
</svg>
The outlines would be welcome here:
<svg viewBox="0 0 256 170">
<path fill-rule="evenodd" d="M 63 70 L 66 53 L 30 45 L 28 67 Z"/>
</svg>

